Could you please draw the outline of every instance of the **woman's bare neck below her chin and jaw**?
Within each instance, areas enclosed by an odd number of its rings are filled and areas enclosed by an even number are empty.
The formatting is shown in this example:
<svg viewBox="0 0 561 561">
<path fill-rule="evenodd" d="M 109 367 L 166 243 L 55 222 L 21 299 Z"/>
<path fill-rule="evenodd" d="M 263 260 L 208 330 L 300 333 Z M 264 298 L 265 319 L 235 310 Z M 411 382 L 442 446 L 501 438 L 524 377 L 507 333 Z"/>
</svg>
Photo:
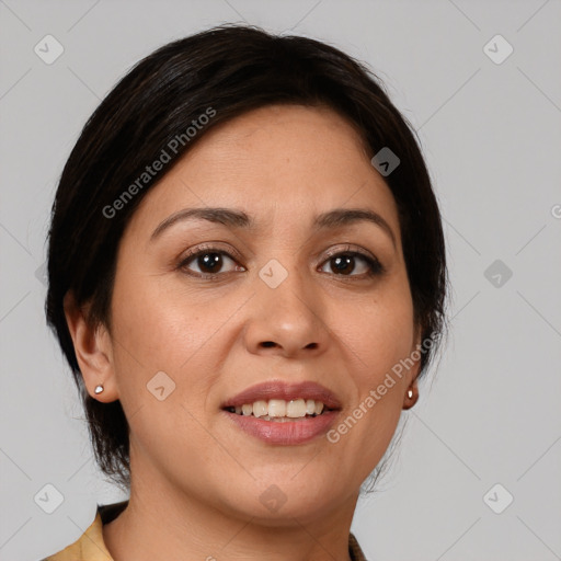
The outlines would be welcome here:
<svg viewBox="0 0 561 561">
<path fill-rule="evenodd" d="M 306 518 L 288 515 L 264 520 L 172 488 L 157 470 L 131 472 L 127 508 L 103 527 L 114 561 L 350 560 L 348 534 L 357 494 Z"/>
</svg>

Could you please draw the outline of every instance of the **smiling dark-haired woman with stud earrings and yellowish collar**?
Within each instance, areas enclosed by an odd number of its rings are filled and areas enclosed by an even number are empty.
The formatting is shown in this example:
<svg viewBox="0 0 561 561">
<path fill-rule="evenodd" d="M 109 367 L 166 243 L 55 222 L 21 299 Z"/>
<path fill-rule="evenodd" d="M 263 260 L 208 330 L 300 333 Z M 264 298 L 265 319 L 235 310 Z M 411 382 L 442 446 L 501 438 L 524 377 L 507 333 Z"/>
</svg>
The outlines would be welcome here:
<svg viewBox="0 0 561 561">
<path fill-rule="evenodd" d="M 140 61 L 53 208 L 47 317 L 130 499 L 49 560 L 365 559 L 360 485 L 444 322 L 440 215 L 375 77 L 221 26 Z"/>
</svg>

